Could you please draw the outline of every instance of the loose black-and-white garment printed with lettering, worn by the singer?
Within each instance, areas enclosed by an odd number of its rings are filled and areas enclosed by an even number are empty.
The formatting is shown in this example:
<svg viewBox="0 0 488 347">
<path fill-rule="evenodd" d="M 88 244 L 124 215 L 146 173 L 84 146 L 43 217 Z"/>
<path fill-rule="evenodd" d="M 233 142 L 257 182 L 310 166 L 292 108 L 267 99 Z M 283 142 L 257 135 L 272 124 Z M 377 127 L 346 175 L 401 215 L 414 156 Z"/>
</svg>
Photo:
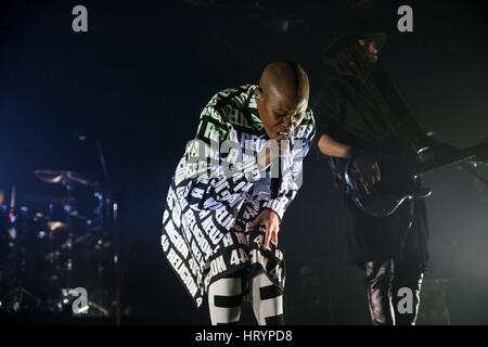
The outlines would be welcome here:
<svg viewBox="0 0 488 347">
<path fill-rule="evenodd" d="M 163 250 L 197 307 L 210 283 L 242 268 L 249 277 L 265 272 L 280 291 L 284 287 L 282 252 L 264 249 L 264 228 L 248 230 L 247 224 L 264 208 L 283 218 L 301 185 L 314 120 L 308 108 L 282 162 L 279 194 L 271 198 L 270 171 L 259 171 L 256 165 L 269 139 L 257 112 L 256 88 L 226 89 L 209 101 L 166 197 Z"/>
</svg>

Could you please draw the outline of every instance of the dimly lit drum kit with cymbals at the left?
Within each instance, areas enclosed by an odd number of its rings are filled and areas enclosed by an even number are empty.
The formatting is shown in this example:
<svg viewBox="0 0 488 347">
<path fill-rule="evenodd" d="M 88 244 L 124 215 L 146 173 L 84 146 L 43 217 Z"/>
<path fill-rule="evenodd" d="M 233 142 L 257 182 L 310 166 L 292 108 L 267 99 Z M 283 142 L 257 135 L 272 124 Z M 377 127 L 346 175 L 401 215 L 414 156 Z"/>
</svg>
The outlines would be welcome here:
<svg viewBox="0 0 488 347">
<path fill-rule="evenodd" d="M 35 176 L 61 187 L 63 195 L 38 197 L 33 208 L 18 204 L 15 188 L 8 205 L 0 192 L 0 311 L 73 313 L 77 297 L 70 293 L 81 287 L 88 296 L 82 314 L 115 314 L 112 195 L 70 170 L 36 170 Z"/>
</svg>

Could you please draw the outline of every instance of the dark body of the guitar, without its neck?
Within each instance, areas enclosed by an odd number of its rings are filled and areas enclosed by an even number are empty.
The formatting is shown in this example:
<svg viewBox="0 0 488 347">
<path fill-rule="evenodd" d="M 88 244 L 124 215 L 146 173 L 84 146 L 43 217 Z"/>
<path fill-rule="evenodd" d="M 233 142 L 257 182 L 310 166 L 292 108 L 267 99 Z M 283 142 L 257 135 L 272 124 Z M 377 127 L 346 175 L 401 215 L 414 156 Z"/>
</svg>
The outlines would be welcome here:
<svg viewBox="0 0 488 347">
<path fill-rule="evenodd" d="M 375 217 L 387 217 L 410 198 L 425 198 L 429 189 L 415 184 L 415 177 L 408 165 L 400 160 L 378 162 L 382 179 L 373 187 L 365 187 L 352 162 L 345 167 L 345 181 L 354 203 L 360 210 Z"/>
</svg>

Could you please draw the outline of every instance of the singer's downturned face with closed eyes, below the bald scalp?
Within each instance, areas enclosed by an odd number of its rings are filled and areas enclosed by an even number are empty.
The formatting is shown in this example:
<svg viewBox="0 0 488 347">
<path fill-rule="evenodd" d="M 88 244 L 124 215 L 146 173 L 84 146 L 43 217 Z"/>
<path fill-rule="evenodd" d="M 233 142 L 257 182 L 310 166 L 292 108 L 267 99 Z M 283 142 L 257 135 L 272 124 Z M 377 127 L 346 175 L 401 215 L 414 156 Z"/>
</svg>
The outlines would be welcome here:
<svg viewBox="0 0 488 347">
<path fill-rule="evenodd" d="M 304 120 L 308 107 L 307 98 L 284 95 L 274 90 L 256 89 L 256 104 L 265 130 L 270 139 L 285 140 L 293 137 L 295 128 Z"/>
</svg>

